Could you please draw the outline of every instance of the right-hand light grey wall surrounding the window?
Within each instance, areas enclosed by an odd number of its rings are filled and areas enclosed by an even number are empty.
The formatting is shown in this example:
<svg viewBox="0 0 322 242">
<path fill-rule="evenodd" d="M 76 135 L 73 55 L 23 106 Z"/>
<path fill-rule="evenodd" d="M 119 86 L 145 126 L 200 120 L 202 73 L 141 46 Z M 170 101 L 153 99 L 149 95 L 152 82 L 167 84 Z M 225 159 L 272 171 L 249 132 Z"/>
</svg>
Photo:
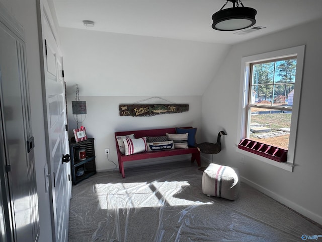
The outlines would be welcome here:
<svg viewBox="0 0 322 242">
<path fill-rule="evenodd" d="M 286 204 L 294 210 L 322 224 L 322 162 L 320 125 L 322 114 L 318 96 L 322 90 L 320 58 L 322 54 L 322 20 L 262 38 L 237 44 L 224 59 L 220 71 L 203 96 L 203 138 L 211 141 L 221 130 L 223 150 L 214 162 L 240 169 L 244 181 Z M 294 172 L 236 152 L 237 119 L 241 57 L 273 50 L 306 45 L 299 111 Z M 209 158 L 209 157 L 208 157 Z"/>
</svg>

